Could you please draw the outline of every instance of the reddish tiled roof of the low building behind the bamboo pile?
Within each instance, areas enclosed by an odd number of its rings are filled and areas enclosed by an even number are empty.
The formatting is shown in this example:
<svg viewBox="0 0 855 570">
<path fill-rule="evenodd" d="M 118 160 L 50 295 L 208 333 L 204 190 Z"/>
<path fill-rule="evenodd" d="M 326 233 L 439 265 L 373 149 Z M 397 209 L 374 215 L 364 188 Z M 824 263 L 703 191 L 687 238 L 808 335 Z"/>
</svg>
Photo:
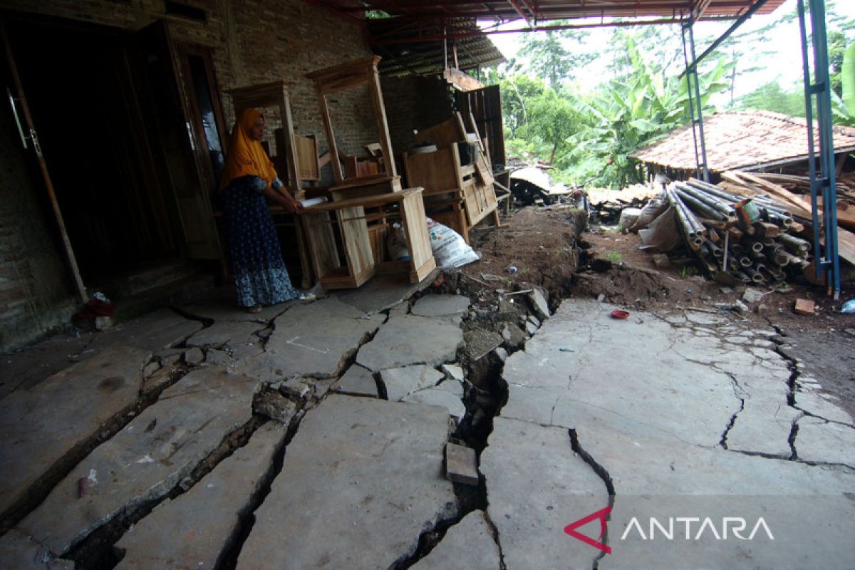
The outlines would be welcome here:
<svg viewBox="0 0 855 570">
<path fill-rule="evenodd" d="M 814 140 L 817 141 L 817 127 Z M 770 111 L 716 113 L 704 120 L 707 166 L 713 172 L 762 167 L 805 160 L 808 154 L 807 121 Z M 834 150 L 855 149 L 855 129 L 834 127 Z M 632 155 L 677 170 L 694 170 L 691 126 L 672 132 Z"/>
</svg>

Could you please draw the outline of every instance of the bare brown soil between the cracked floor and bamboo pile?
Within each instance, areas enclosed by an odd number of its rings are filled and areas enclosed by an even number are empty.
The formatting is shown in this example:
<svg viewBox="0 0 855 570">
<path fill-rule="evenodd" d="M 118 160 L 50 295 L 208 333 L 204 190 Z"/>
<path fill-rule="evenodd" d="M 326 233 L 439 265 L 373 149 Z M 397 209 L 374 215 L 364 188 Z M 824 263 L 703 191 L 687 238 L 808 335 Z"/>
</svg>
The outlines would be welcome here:
<svg viewBox="0 0 855 570">
<path fill-rule="evenodd" d="M 656 267 L 652 254 L 638 249 L 636 234 L 599 226 L 586 231 L 584 213 L 569 207 L 520 209 L 504 224 L 480 238 L 472 232 L 472 245 L 482 259 L 463 267 L 463 274 L 492 289 L 539 287 L 553 309 L 564 298 L 602 295 L 605 302 L 628 310 L 717 312 L 716 303 L 735 303 L 745 291 L 744 285 L 722 285 L 698 274 L 689 258 Z M 510 266 L 516 266 L 516 273 L 509 272 Z M 746 303 L 748 311 L 734 317 L 746 326 L 775 327 L 793 347 L 787 355 L 804 361 L 805 373 L 821 379 L 823 389 L 855 416 L 855 314 L 840 313 L 842 303 L 855 298 L 852 283 L 844 285 L 839 301 L 807 281 L 784 290 L 754 288 L 764 293 L 763 300 Z M 794 313 L 798 298 L 814 301 L 817 313 Z"/>
</svg>

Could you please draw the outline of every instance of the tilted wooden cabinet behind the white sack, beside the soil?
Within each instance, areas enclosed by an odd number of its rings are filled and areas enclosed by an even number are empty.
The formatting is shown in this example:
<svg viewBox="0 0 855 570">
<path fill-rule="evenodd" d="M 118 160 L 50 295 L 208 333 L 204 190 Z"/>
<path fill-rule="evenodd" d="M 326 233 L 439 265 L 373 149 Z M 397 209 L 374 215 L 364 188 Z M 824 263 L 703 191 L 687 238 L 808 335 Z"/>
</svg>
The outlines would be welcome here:
<svg viewBox="0 0 855 570">
<path fill-rule="evenodd" d="M 428 215 L 454 229 L 467 244 L 469 229 L 487 215 L 499 226 L 485 146 L 477 132 L 466 131 L 461 115 L 417 132 L 416 141 L 433 145 L 404 153 L 407 182 L 424 187 Z"/>
</svg>

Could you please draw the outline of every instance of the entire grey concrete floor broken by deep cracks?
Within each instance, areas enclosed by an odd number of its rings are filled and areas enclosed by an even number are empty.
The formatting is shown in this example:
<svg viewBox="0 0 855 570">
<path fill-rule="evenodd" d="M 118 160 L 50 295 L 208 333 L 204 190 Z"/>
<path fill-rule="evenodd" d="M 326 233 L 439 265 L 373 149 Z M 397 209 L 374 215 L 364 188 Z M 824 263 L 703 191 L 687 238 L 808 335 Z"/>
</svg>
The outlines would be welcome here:
<svg viewBox="0 0 855 570">
<path fill-rule="evenodd" d="M 483 329 L 504 360 L 469 354 L 468 297 L 381 285 L 34 349 L 0 393 L 0 567 L 853 566 L 855 423 L 775 330 L 533 299 L 524 343 Z M 490 397 L 466 491 L 445 443 Z"/>
</svg>

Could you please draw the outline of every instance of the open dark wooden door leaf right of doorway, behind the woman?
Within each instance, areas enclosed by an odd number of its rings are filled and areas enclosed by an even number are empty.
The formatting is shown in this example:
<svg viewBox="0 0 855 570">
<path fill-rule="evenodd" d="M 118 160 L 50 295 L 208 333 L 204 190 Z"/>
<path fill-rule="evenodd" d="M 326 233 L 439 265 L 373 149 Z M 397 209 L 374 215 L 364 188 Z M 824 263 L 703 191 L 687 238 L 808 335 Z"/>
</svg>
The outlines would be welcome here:
<svg viewBox="0 0 855 570">
<path fill-rule="evenodd" d="M 174 194 L 185 256 L 219 259 L 210 192 L 215 184 L 209 145 L 200 140 L 166 21 L 133 34 L 130 62 L 148 139 L 162 183 Z"/>
</svg>

